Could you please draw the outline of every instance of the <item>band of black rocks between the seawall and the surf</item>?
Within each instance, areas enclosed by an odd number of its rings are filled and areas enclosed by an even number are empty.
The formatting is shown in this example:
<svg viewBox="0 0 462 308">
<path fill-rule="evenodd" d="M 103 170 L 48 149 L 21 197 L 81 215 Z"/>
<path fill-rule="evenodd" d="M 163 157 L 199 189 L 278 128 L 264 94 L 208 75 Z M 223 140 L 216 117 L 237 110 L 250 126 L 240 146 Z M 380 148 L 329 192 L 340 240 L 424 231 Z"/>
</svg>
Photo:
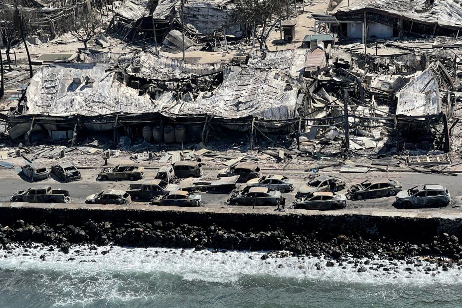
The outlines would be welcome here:
<svg viewBox="0 0 462 308">
<path fill-rule="evenodd" d="M 154 223 L 134 222 L 114 224 L 109 221 L 93 222 L 88 220 L 82 225 L 50 225 L 42 223 L 33 225 L 17 220 L 12 226 L 0 225 L 0 256 L 7 258 L 4 252 L 11 245 L 32 247 L 50 246 L 51 250 L 69 253 L 73 244 L 88 244 L 90 247 L 117 245 L 126 247 L 160 247 L 160 248 L 205 248 L 212 253 L 223 250 L 248 251 L 288 251 L 285 255 L 268 253 L 262 260 L 284 256 L 309 256 L 319 258 L 317 269 L 329 266 L 342 266 L 342 262 L 352 262 L 358 271 L 365 271 L 373 266 L 372 261 L 389 260 L 390 264 L 399 262 L 414 267 L 422 266 L 419 258 L 424 259 L 442 270 L 457 267 L 462 269 L 462 245 L 455 235 L 442 233 L 435 235 L 425 243 L 397 241 L 384 237 L 364 238 L 359 235 L 320 234 L 319 232 L 285 232 L 281 228 L 267 231 L 245 232 L 217 225 L 208 227 L 174 224 L 155 221 Z M 95 248 L 96 249 L 96 248 Z M 49 251 L 51 251 L 49 250 Z M 3 253 L 2 253 L 3 252 Z M 356 261 L 355 261 L 356 260 Z M 377 265 L 376 265 L 377 266 Z M 379 267 L 383 271 L 393 271 L 393 266 Z M 431 272 L 431 270 L 429 270 Z"/>
</svg>

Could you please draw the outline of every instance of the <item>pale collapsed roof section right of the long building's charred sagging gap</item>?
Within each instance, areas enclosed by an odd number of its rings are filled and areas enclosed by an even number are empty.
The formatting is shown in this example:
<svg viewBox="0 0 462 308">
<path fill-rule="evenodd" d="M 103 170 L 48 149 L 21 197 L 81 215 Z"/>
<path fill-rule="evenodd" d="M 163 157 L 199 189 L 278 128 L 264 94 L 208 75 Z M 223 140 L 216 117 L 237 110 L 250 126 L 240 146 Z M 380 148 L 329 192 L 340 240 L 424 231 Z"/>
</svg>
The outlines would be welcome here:
<svg viewBox="0 0 462 308">
<path fill-rule="evenodd" d="M 178 102 L 173 113 L 207 113 L 225 118 L 254 115 L 281 120 L 298 116 L 299 88 L 295 78 L 276 70 L 232 66 L 223 83 L 194 102 Z"/>
</svg>

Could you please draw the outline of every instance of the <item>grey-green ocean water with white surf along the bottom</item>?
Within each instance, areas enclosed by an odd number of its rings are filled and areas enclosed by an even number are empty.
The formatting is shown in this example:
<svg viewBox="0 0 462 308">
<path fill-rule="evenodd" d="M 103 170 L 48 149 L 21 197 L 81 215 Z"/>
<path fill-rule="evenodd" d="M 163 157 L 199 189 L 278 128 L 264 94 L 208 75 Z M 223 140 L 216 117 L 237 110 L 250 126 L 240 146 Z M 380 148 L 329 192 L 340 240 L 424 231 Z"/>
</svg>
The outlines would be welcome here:
<svg viewBox="0 0 462 308">
<path fill-rule="evenodd" d="M 73 246 L 63 254 L 47 248 L 0 250 L 0 307 L 462 306 L 462 271 L 442 271 L 425 260 L 421 267 L 376 260 L 398 273 L 358 273 L 353 264 L 325 267 L 317 258 L 261 260 L 264 252 Z"/>
</svg>

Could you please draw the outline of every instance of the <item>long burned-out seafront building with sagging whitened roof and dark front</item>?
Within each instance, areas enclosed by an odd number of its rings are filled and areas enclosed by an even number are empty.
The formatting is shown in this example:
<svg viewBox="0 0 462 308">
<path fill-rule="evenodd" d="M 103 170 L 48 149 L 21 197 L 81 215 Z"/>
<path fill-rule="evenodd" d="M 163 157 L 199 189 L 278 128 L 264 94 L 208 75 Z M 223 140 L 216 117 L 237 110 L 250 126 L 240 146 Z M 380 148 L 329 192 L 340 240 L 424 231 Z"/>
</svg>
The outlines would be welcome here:
<svg viewBox="0 0 462 308">
<path fill-rule="evenodd" d="M 253 140 L 300 130 L 305 82 L 277 69 L 187 64 L 151 53 L 84 54 L 107 63 L 41 68 L 17 108 L 3 113 L 12 139 L 36 131 L 206 142 L 240 132 Z"/>
</svg>

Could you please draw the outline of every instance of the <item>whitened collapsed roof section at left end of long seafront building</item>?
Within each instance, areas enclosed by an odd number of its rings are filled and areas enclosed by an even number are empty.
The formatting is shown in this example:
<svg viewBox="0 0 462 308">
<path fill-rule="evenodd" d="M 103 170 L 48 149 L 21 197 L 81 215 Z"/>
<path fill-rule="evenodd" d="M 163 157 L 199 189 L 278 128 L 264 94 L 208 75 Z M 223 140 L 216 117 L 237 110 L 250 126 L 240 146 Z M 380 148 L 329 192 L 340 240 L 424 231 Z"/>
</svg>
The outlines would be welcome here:
<svg viewBox="0 0 462 308">
<path fill-rule="evenodd" d="M 24 114 L 102 115 L 157 111 L 149 95 L 118 80 L 107 64 L 62 64 L 40 68 L 27 87 Z M 166 101 L 167 94 L 162 97 Z M 171 97 L 170 97 L 171 99 Z"/>
</svg>

